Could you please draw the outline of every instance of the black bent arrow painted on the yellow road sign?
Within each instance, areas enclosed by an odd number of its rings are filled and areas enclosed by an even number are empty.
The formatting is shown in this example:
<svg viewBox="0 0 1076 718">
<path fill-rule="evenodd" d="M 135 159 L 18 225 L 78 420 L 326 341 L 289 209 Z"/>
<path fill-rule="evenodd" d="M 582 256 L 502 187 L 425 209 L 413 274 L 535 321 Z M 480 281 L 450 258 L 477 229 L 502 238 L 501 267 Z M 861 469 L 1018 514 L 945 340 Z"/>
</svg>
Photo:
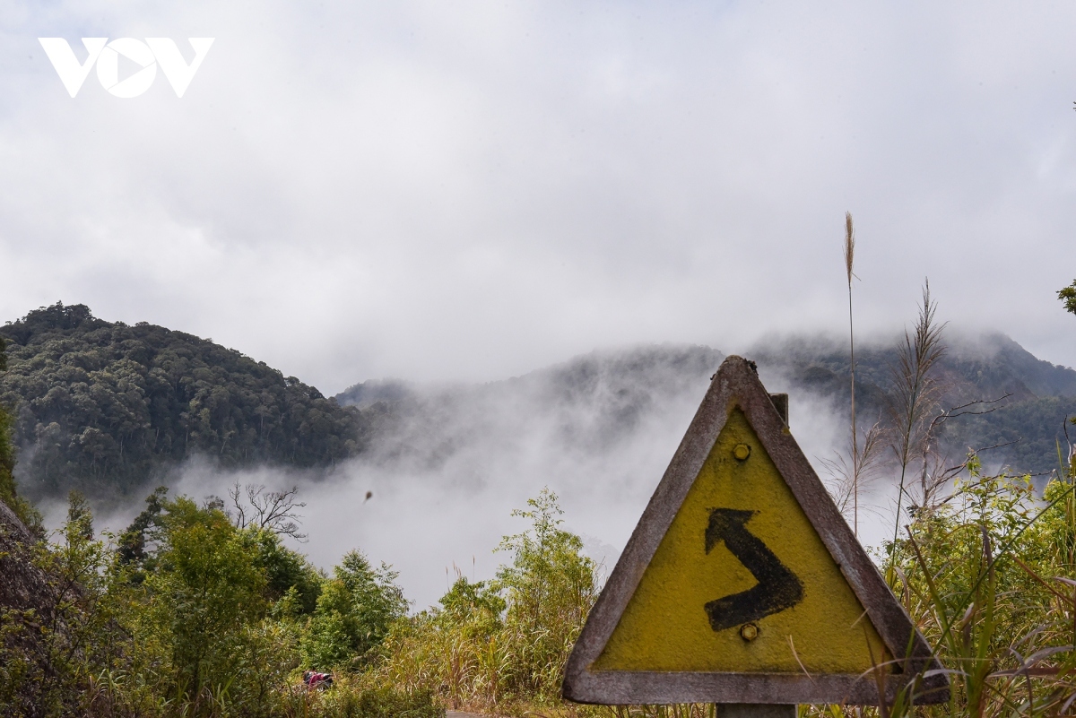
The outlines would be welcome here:
<svg viewBox="0 0 1076 718">
<path fill-rule="evenodd" d="M 758 512 L 736 508 L 711 508 L 706 527 L 706 552 L 725 542 L 758 584 L 746 591 L 706 604 L 710 627 L 721 631 L 764 616 L 779 613 L 799 603 L 804 585 L 780 559 L 745 526 Z"/>
</svg>

